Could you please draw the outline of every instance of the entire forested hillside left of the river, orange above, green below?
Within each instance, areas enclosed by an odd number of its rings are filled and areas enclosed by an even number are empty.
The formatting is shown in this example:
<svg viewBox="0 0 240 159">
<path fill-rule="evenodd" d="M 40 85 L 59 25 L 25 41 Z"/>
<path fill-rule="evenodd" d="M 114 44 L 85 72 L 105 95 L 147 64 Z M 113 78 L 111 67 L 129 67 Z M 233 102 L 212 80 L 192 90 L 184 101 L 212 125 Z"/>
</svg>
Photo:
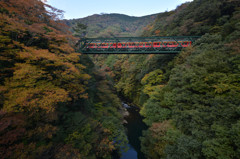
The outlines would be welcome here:
<svg viewBox="0 0 240 159">
<path fill-rule="evenodd" d="M 0 158 L 111 158 L 127 144 L 121 102 L 72 47 L 62 11 L 0 1 Z"/>
</svg>

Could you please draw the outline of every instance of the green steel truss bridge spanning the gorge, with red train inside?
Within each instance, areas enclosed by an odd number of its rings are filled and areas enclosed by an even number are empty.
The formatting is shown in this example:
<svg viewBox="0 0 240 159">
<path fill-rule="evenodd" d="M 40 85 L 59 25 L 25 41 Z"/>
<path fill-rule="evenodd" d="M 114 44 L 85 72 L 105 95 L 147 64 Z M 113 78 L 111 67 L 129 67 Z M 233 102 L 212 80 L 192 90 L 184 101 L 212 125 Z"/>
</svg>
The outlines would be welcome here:
<svg viewBox="0 0 240 159">
<path fill-rule="evenodd" d="M 83 54 L 175 54 L 200 36 L 84 38 L 77 51 Z"/>
</svg>

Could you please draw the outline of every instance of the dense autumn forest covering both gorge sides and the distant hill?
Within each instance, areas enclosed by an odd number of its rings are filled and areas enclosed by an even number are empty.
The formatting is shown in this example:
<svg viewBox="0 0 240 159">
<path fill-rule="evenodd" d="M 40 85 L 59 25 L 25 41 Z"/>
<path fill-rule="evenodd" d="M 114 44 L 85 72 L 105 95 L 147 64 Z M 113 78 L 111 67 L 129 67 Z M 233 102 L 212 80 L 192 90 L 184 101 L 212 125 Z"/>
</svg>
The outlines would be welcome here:
<svg viewBox="0 0 240 159">
<path fill-rule="evenodd" d="M 1 158 L 112 158 L 128 142 L 118 96 L 145 117 L 146 158 L 240 158 L 239 0 L 137 20 L 61 16 L 40 0 L 0 1 Z M 177 55 L 87 56 L 74 48 L 78 22 L 87 37 L 201 38 Z"/>
</svg>

